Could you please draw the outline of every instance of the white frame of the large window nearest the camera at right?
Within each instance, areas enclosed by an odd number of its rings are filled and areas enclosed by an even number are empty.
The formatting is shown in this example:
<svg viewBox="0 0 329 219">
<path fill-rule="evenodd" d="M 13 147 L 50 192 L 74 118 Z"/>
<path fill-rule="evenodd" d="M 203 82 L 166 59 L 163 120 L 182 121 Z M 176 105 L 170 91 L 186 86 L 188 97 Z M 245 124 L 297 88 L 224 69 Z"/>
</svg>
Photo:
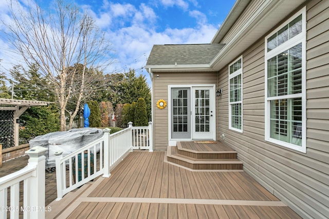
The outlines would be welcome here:
<svg viewBox="0 0 329 219">
<path fill-rule="evenodd" d="M 295 18 L 302 14 L 302 32 L 288 39 L 283 44 L 267 52 L 267 39 L 286 26 L 288 23 L 293 21 Z M 302 92 L 298 94 L 288 94 L 282 96 L 268 96 L 267 89 L 267 61 L 268 59 L 278 55 L 280 52 L 288 50 L 298 44 L 302 44 Z M 283 98 L 297 98 L 302 99 L 302 146 L 283 142 L 275 138 L 270 137 L 270 101 L 273 99 Z M 290 111 L 291 114 L 291 111 Z M 277 144 L 289 149 L 306 153 L 306 7 L 302 8 L 296 14 L 291 16 L 287 21 L 272 31 L 270 34 L 265 36 L 265 141 Z"/>
</svg>

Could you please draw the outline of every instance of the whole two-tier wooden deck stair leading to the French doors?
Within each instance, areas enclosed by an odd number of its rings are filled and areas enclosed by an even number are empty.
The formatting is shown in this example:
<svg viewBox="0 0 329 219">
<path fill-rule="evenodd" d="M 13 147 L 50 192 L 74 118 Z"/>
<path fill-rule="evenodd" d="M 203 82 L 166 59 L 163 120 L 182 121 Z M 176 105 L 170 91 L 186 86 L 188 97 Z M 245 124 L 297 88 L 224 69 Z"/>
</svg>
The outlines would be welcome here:
<svg viewBox="0 0 329 219">
<path fill-rule="evenodd" d="M 192 170 L 239 171 L 243 168 L 236 151 L 213 141 L 177 142 L 177 146 L 167 148 L 167 160 Z"/>
</svg>

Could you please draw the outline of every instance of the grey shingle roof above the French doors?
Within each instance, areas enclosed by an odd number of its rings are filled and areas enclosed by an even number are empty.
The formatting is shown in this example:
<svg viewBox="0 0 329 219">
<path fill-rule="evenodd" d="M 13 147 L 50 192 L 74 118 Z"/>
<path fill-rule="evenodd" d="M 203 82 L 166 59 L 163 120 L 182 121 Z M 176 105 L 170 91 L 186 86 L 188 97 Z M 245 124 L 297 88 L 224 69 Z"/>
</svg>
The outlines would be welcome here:
<svg viewBox="0 0 329 219">
<path fill-rule="evenodd" d="M 225 44 L 154 45 L 147 66 L 204 65 L 221 51 Z"/>
</svg>

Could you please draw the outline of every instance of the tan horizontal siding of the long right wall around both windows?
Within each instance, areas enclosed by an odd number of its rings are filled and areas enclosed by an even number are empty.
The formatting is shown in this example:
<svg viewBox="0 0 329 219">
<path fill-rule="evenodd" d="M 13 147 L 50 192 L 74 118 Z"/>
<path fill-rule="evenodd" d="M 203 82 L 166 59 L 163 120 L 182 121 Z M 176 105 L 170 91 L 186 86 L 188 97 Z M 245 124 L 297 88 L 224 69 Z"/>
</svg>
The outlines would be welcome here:
<svg viewBox="0 0 329 219">
<path fill-rule="evenodd" d="M 242 53 L 243 133 L 228 129 L 228 68 L 218 72 L 223 95 L 216 103 L 216 137 L 238 152 L 247 173 L 302 217 L 324 218 L 329 215 L 329 1 L 308 1 L 306 10 L 307 152 L 265 141 L 264 37 Z"/>
</svg>

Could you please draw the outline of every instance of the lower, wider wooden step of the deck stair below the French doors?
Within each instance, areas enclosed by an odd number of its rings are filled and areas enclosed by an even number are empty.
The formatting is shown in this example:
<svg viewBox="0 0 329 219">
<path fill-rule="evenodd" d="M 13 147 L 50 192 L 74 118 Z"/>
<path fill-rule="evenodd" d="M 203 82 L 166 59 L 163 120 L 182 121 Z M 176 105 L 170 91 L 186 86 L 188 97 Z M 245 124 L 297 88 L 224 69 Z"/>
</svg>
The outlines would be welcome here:
<svg viewBox="0 0 329 219">
<path fill-rule="evenodd" d="M 167 160 L 169 163 L 186 167 L 193 170 L 242 170 L 243 163 L 237 158 L 194 158 L 182 155 L 181 150 L 175 147 L 168 147 Z M 192 154 L 194 154 L 192 152 Z"/>
</svg>

